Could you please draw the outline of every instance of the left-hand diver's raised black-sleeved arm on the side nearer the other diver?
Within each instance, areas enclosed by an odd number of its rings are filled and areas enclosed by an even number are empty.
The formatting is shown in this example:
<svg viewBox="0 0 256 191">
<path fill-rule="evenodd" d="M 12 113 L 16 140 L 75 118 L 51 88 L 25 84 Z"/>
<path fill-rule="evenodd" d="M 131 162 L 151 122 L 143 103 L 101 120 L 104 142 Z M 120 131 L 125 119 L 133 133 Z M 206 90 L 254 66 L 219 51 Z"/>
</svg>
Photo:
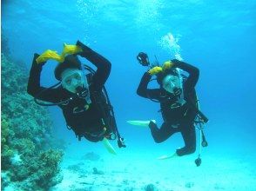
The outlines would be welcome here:
<svg viewBox="0 0 256 191">
<path fill-rule="evenodd" d="M 79 55 L 83 56 L 97 67 L 97 71 L 93 76 L 93 83 L 96 89 L 102 89 L 104 83 L 110 76 L 111 63 L 104 58 L 104 56 L 99 55 L 97 52 L 85 46 L 83 43 L 77 41 L 77 45 L 83 50 L 81 53 L 79 53 Z"/>
</svg>

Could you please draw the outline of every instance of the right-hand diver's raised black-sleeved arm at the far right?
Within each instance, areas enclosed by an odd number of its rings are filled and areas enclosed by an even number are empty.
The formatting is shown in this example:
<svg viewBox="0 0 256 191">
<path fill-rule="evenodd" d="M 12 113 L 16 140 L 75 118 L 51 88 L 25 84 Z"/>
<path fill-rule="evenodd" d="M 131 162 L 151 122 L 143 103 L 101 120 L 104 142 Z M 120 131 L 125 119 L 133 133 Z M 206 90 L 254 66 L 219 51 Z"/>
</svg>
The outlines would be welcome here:
<svg viewBox="0 0 256 191">
<path fill-rule="evenodd" d="M 188 63 L 184 63 L 176 59 L 172 60 L 172 63 L 174 63 L 174 68 L 183 69 L 189 74 L 184 86 L 185 89 L 192 90 L 199 80 L 199 69 Z"/>
</svg>

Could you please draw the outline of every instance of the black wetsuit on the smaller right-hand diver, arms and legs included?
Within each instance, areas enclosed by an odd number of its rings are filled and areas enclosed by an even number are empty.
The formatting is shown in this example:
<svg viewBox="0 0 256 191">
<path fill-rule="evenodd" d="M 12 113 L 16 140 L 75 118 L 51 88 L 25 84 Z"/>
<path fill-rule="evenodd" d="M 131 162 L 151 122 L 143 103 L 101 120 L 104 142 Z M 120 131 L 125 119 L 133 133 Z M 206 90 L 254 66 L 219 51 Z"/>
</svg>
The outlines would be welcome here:
<svg viewBox="0 0 256 191">
<path fill-rule="evenodd" d="M 199 79 L 199 69 L 192 65 L 178 60 L 173 60 L 174 68 L 183 69 L 188 72 L 189 76 L 183 84 L 185 104 L 179 108 L 171 109 L 174 102 L 177 102 L 177 96 L 165 91 L 165 89 L 147 89 L 152 76 L 145 72 L 141 82 L 138 85 L 137 94 L 145 97 L 156 99 L 160 102 L 161 112 L 164 123 L 161 128 L 153 122 L 150 123 L 152 137 L 155 142 L 164 142 L 171 135 L 181 132 L 185 147 L 177 149 L 177 155 L 188 155 L 196 149 L 196 135 L 193 125 L 196 111 L 192 107 L 191 100 L 196 100 L 194 87 Z"/>
</svg>

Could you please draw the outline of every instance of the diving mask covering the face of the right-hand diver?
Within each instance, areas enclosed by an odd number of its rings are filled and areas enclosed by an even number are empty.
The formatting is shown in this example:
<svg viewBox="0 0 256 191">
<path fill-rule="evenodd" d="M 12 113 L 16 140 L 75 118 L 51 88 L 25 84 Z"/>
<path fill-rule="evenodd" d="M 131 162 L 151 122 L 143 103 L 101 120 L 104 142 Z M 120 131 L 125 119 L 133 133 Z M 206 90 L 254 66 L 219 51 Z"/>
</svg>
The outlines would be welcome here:
<svg viewBox="0 0 256 191">
<path fill-rule="evenodd" d="M 167 75 L 162 81 L 163 88 L 174 95 L 179 95 L 182 89 L 179 76 Z"/>
</svg>

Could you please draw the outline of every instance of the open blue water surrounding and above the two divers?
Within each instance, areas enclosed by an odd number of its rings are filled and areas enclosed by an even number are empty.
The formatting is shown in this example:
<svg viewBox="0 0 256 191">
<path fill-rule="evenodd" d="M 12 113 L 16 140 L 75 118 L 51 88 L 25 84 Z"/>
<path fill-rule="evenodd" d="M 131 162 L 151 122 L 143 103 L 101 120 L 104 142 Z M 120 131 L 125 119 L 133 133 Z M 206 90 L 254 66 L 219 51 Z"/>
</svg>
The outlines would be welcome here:
<svg viewBox="0 0 256 191">
<path fill-rule="evenodd" d="M 255 152 L 255 18 L 256 1 L 248 0 L 2 2 L 2 30 L 9 38 L 11 55 L 26 63 L 28 69 L 35 52 L 55 49 L 60 53 L 63 43 L 75 44 L 77 39 L 111 61 L 106 87 L 119 131 L 128 144 L 145 150 L 151 146 L 168 149 L 170 145 L 172 150 L 183 142 L 177 135 L 163 143 L 165 146 L 156 145 L 148 130 L 126 123 L 134 119 L 162 122 L 158 104 L 136 95 L 146 70 L 136 60 L 138 52 L 147 52 L 151 61 L 156 55 L 159 63 L 178 54 L 186 63 L 197 66 L 200 76 L 196 89 L 201 109 L 210 119 L 205 126 L 209 155 Z M 176 46 L 163 40 L 168 34 L 175 38 Z M 44 66 L 44 86 L 56 82 L 56 64 Z M 65 128 L 60 110 L 50 110 L 56 133 L 77 142 Z M 255 163 L 252 165 L 255 168 Z"/>
</svg>

